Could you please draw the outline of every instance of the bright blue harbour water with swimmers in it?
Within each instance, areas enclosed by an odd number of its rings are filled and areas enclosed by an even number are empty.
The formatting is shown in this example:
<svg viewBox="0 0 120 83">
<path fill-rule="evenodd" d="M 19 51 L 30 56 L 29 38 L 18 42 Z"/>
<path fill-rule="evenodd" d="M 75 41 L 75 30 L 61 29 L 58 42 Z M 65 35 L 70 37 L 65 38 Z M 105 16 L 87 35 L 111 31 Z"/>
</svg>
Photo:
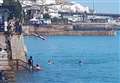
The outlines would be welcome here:
<svg viewBox="0 0 120 83">
<path fill-rule="evenodd" d="M 28 55 L 43 71 L 19 72 L 17 83 L 120 83 L 116 36 L 25 37 Z M 52 60 L 54 64 L 48 64 Z M 79 63 L 81 61 L 82 63 Z"/>
</svg>

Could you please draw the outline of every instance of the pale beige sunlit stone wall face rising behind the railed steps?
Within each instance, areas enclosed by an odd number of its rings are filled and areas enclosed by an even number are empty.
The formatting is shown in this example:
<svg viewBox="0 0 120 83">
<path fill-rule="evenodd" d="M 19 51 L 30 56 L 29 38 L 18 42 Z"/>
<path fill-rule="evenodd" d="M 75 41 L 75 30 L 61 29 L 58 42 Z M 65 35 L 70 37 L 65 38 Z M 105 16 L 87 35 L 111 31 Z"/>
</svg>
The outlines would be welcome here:
<svg viewBox="0 0 120 83">
<path fill-rule="evenodd" d="M 26 61 L 26 50 L 22 35 L 13 35 L 11 38 L 11 48 L 13 59 L 20 59 Z"/>
</svg>

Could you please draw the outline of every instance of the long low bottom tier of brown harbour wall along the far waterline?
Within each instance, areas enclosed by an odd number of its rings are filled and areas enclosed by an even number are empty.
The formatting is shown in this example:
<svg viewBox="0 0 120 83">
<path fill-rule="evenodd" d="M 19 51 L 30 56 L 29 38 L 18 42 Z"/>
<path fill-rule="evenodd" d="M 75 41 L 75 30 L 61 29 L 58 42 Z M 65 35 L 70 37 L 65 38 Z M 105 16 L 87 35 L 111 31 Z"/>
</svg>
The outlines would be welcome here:
<svg viewBox="0 0 120 83">
<path fill-rule="evenodd" d="M 25 33 L 26 36 L 31 36 L 36 32 Z M 50 32 L 37 32 L 39 35 L 45 36 L 115 36 L 115 31 L 50 31 Z"/>
</svg>

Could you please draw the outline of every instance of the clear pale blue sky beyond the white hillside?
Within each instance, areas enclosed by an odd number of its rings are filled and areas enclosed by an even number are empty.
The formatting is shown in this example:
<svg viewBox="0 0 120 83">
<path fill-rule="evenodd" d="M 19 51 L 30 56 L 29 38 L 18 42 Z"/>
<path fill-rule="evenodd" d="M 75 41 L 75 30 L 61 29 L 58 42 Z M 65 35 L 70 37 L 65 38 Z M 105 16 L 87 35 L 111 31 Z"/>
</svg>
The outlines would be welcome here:
<svg viewBox="0 0 120 83">
<path fill-rule="evenodd" d="M 84 6 L 88 6 L 99 13 L 119 13 L 120 14 L 120 0 L 68 0 L 78 2 Z"/>
</svg>

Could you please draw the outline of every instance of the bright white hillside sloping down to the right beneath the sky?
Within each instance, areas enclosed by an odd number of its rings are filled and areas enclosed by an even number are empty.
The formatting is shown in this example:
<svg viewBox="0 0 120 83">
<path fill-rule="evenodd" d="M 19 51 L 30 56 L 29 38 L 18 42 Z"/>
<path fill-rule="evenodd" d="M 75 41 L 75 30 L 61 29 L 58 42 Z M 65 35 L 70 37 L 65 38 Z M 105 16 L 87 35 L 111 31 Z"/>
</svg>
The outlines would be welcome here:
<svg viewBox="0 0 120 83">
<path fill-rule="evenodd" d="M 48 12 L 90 12 L 88 7 L 82 6 L 78 3 L 65 2 L 64 0 L 20 0 L 22 6 L 46 5 Z M 58 4 L 59 3 L 59 4 Z"/>
</svg>

